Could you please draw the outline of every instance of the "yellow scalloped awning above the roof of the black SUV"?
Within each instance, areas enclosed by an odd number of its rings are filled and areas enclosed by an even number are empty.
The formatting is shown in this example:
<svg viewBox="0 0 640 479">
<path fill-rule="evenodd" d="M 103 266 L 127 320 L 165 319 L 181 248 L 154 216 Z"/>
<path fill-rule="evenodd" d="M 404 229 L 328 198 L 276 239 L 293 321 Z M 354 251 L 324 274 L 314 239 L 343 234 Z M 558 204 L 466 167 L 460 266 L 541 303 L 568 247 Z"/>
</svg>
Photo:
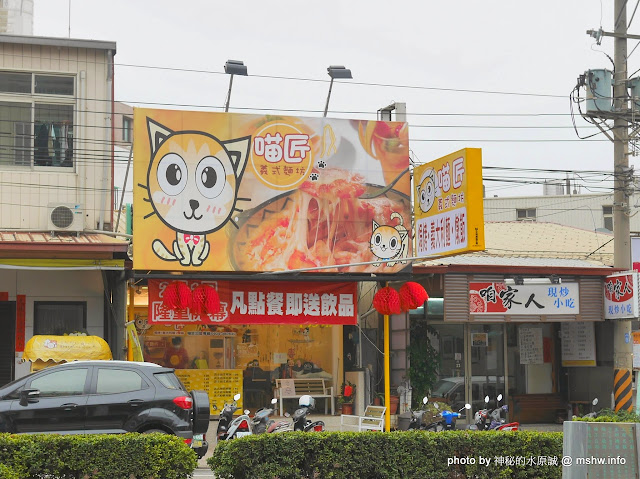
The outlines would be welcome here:
<svg viewBox="0 0 640 479">
<path fill-rule="evenodd" d="M 24 347 L 26 361 L 76 361 L 113 359 L 107 342 L 99 336 L 33 336 Z"/>
</svg>

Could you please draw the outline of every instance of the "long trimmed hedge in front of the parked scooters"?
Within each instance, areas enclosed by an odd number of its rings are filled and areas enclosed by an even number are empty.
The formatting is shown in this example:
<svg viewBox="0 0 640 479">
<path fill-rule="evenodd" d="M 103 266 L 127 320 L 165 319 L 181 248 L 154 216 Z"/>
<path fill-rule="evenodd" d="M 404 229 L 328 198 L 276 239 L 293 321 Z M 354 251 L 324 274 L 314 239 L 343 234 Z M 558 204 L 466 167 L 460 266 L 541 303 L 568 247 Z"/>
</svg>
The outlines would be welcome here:
<svg viewBox="0 0 640 479">
<path fill-rule="evenodd" d="M 557 465 L 531 463 L 541 457 Z M 560 432 L 288 432 L 220 442 L 207 463 L 220 479 L 547 479 L 562 476 L 561 457 Z"/>
</svg>

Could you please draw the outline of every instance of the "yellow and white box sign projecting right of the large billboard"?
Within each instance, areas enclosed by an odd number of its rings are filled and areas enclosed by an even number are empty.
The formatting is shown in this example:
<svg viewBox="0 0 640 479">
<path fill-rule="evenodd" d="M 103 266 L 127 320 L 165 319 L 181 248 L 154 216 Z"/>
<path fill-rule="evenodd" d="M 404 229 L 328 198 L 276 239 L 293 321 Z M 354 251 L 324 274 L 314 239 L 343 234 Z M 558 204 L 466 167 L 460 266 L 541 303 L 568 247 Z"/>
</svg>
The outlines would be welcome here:
<svg viewBox="0 0 640 479">
<path fill-rule="evenodd" d="M 413 170 L 416 256 L 484 250 L 482 152 L 465 148 Z"/>
</svg>

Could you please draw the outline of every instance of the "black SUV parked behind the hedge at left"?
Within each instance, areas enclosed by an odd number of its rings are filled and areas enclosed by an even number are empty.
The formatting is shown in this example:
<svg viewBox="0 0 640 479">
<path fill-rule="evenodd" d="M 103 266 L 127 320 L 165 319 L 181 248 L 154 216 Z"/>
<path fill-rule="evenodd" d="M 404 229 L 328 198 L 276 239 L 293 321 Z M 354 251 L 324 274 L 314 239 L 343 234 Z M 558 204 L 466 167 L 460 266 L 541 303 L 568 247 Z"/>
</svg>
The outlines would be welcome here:
<svg viewBox="0 0 640 479">
<path fill-rule="evenodd" d="M 75 361 L 0 387 L 0 432 L 163 432 L 190 444 L 208 427 L 207 393 L 153 363 Z"/>
</svg>

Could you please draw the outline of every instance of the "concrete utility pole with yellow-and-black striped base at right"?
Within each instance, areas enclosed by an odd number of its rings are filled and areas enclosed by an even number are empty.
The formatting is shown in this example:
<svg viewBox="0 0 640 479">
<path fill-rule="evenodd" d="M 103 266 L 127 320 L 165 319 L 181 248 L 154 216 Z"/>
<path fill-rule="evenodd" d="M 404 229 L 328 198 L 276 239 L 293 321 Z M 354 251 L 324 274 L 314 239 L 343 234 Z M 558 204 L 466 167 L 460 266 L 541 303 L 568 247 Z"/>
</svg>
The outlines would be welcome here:
<svg viewBox="0 0 640 479">
<path fill-rule="evenodd" d="M 617 113 L 613 123 L 613 231 L 614 265 L 616 268 L 631 269 L 631 236 L 629 228 L 629 137 L 628 124 L 622 114 L 628 109 L 626 99 L 627 80 L 627 0 L 615 0 L 614 19 L 614 66 L 613 106 Z M 631 373 L 633 369 L 633 343 L 631 321 L 616 320 L 613 329 L 613 367 L 615 410 L 631 411 L 633 406 Z"/>
</svg>

